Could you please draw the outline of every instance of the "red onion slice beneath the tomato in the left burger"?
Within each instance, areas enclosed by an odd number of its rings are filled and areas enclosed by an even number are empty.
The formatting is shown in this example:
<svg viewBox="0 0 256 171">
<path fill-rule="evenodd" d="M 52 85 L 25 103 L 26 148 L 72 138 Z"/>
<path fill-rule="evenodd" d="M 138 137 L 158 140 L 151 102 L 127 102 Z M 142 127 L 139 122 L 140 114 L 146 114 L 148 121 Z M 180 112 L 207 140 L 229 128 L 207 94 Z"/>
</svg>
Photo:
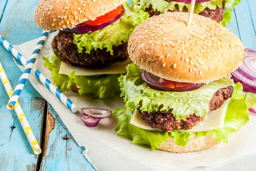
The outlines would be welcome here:
<svg viewBox="0 0 256 171">
<path fill-rule="evenodd" d="M 75 33 L 75 34 L 91 33 L 93 31 L 96 31 L 96 30 L 99 30 L 99 29 L 103 29 L 104 27 L 107 27 L 108 25 L 117 21 L 123 15 L 124 15 L 124 7 L 122 6 L 121 13 L 119 15 L 117 15 L 115 18 L 109 20 L 108 22 L 105 22 L 105 23 L 100 24 L 98 26 L 90 26 L 90 25 L 81 23 L 81 24 L 76 25 L 76 27 L 73 28 L 73 29 L 68 29 L 67 28 L 67 29 L 63 29 L 63 31 L 65 31 L 67 33 Z"/>
</svg>

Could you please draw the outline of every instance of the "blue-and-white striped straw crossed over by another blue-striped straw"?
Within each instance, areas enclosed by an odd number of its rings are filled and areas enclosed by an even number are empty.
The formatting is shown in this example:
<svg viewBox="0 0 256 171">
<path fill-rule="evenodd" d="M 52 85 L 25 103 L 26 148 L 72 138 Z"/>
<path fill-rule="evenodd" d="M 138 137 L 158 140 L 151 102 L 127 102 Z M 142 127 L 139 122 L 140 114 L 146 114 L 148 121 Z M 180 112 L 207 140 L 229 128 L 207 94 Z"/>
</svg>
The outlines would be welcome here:
<svg viewBox="0 0 256 171">
<path fill-rule="evenodd" d="M 7 40 L 5 40 L 0 35 L 0 43 L 2 46 L 4 46 L 5 49 L 7 49 L 19 62 L 22 63 L 23 66 L 27 64 L 27 59 L 22 56 L 15 48 L 11 46 Z M 40 82 L 47 87 L 70 111 L 75 113 L 78 110 L 78 107 L 70 100 L 68 99 L 57 87 L 55 87 L 52 82 L 50 82 L 38 69 L 32 68 L 31 73 L 40 80 Z"/>
</svg>

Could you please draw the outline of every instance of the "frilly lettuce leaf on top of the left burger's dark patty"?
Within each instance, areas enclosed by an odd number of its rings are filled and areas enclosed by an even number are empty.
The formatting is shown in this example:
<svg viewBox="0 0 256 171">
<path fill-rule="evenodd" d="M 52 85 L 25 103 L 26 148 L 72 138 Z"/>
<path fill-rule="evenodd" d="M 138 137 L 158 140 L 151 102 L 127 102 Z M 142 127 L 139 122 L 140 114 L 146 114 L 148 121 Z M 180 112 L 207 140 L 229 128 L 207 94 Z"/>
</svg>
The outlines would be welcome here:
<svg viewBox="0 0 256 171">
<path fill-rule="evenodd" d="M 86 53 L 90 53 L 92 49 L 107 48 L 107 51 L 110 51 L 110 54 L 113 55 L 112 46 L 127 42 L 135 27 L 148 19 L 148 13 L 140 10 L 133 3 L 131 6 L 128 2 L 123 5 L 125 13 L 116 22 L 92 33 L 73 35 L 73 43 L 77 45 L 80 53 L 83 49 L 86 49 Z"/>
</svg>

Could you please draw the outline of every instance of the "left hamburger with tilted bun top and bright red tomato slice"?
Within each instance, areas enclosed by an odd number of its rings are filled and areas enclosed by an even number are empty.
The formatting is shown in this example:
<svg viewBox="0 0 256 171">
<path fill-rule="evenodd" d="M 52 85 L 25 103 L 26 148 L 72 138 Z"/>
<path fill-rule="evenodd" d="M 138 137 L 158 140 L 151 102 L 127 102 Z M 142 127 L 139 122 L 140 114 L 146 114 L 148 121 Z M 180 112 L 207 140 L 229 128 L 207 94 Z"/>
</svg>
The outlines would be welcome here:
<svg viewBox="0 0 256 171">
<path fill-rule="evenodd" d="M 126 0 L 42 0 L 34 18 L 38 27 L 58 30 L 52 55 L 43 57 L 53 84 L 61 91 L 110 98 L 120 92 L 117 78 L 130 63 L 130 33 L 148 13 Z M 119 65 L 124 67 L 118 70 Z"/>
</svg>

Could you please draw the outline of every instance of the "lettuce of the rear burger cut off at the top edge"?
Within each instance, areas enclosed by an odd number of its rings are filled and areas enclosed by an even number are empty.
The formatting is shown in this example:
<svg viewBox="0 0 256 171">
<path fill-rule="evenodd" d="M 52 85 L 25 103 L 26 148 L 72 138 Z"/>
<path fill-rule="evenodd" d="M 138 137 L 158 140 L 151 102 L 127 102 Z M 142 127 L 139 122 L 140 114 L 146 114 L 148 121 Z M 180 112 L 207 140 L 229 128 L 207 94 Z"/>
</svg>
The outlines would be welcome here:
<svg viewBox="0 0 256 171">
<path fill-rule="evenodd" d="M 202 3 L 195 3 L 194 7 L 194 13 L 200 13 L 205 8 L 209 8 L 211 10 L 216 9 L 217 7 L 223 7 L 222 6 L 223 0 L 209 0 L 207 2 Z M 240 0 L 226 0 L 225 4 L 225 12 L 224 12 L 224 18 L 221 22 L 221 24 L 226 27 L 227 24 L 230 24 L 231 22 L 231 12 L 233 11 L 233 7 L 236 7 L 240 3 Z M 152 8 L 154 11 L 159 11 L 160 13 L 166 13 L 169 10 L 174 10 L 175 5 L 179 7 L 179 11 L 182 11 L 184 7 L 187 7 L 187 9 L 190 9 L 190 3 L 184 3 L 184 2 L 175 2 L 175 1 L 166 1 L 166 0 L 139 0 L 138 4 L 140 5 L 141 9 L 145 10 L 149 7 L 149 5 L 152 5 Z"/>
</svg>

